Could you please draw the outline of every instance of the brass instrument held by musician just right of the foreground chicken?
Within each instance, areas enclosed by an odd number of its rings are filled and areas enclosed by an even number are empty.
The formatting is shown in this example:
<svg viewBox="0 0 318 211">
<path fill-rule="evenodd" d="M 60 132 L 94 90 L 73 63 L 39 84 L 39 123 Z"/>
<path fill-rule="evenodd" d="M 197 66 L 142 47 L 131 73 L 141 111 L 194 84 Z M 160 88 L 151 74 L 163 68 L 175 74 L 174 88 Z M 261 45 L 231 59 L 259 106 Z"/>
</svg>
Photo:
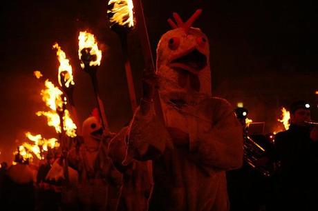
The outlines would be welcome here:
<svg viewBox="0 0 318 211">
<path fill-rule="evenodd" d="M 256 143 L 249 136 L 244 137 L 244 161 L 251 168 L 258 170 L 265 177 L 271 177 L 274 174 L 275 165 L 270 163 L 267 165 L 256 165 L 256 162 L 261 159 L 261 157 L 266 157 L 266 150 Z"/>
</svg>

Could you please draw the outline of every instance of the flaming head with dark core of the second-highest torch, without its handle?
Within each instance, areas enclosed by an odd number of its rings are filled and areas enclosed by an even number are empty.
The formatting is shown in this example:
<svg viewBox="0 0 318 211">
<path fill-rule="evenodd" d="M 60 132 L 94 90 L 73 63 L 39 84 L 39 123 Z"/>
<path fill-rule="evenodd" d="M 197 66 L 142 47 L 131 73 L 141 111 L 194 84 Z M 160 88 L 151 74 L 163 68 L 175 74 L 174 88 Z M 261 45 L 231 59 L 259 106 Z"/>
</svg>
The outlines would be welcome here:
<svg viewBox="0 0 318 211">
<path fill-rule="evenodd" d="M 78 57 L 82 68 L 88 71 L 89 67 L 100 66 L 102 51 L 98 49 L 94 35 L 86 31 L 79 32 L 78 41 Z"/>
</svg>

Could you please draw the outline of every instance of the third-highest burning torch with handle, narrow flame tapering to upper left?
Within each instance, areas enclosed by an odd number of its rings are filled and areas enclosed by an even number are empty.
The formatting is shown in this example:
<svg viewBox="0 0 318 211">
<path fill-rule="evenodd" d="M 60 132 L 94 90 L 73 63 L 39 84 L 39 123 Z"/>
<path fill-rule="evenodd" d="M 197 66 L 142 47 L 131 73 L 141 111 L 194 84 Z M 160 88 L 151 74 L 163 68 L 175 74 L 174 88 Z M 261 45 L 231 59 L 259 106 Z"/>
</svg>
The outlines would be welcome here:
<svg viewBox="0 0 318 211">
<path fill-rule="evenodd" d="M 61 86 L 62 90 L 66 94 L 68 102 L 71 106 L 72 113 L 74 116 L 75 124 L 77 125 L 77 133 L 80 132 L 80 124 L 77 118 L 77 112 L 75 108 L 75 103 L 73 100 L 73 91 L 74 91 L 74 79 L 73 79 L 73 71 L 72 66 L 69 63 L 69 60 L 66 59 L 65 52 L 61 49 L 58 43 L 53 45 L 53 48 L 57 49 L 57 59 L 59 60 L 59 73 L 57 75 L 59 86 Z"/>
</svg>

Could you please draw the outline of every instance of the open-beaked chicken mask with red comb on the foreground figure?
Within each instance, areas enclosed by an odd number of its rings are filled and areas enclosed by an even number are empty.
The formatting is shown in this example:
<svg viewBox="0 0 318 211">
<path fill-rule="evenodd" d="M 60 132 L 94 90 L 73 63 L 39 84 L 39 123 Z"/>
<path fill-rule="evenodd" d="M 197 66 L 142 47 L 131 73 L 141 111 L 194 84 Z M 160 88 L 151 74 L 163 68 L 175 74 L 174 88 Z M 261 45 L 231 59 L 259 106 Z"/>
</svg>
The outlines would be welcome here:
<svg viewBox="0 0 318 211">
<path fill-rule="evenodd" d="M 199 28 L 191 27 L 201 12 L 197 10 L 185 23 L 174 13 L 176 23 L 168 19 L 173 29 L 158 43 L 156 73 L 160 98 L 166 103 L 192 104 L 211 96 L 209 42 Z"/>
</svg>

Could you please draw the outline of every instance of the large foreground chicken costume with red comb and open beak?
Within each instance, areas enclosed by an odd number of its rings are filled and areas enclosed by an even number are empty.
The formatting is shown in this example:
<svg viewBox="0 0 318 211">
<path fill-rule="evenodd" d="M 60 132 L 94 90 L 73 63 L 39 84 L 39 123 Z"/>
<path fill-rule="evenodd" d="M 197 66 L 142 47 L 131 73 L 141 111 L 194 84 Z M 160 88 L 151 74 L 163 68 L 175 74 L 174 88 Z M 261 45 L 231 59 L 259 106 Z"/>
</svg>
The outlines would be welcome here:
<svg viewBox="0 0 318 211">
<path fill-rule="evenodd" d="M 127 159 L 152 159 L 150 210 L 228 210 L 225 171 L 243 162 L 243 135 L 230 103 L 212 97 L 207 37 L 174 14 L 157 48 L 165 125 L 152 101 L 131 121 Z M 171 141 L 174 143 L 171 148 Z M 158 157 L 158 154 L 161 156 Z"/>
</svg>

